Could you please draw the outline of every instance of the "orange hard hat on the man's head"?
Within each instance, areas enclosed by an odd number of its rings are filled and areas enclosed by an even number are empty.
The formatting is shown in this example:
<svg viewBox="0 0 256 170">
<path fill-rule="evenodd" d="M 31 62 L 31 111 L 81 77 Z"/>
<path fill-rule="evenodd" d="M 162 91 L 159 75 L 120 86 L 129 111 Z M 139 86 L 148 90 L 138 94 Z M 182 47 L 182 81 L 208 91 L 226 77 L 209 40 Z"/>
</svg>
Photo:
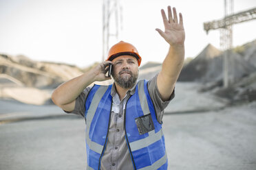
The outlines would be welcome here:
<svg viewBox="0 0 256 170">
<path fill-rule="evenodd" d="M 138 60 L 138 66 L 140 66 L 141 57 L 138 54 L 137 49 L 134 45 L 131 45 L 128 42 L 123 42 L 122 40 L 118 42 L 116 45 L 113 45 L 109 49 L 109 54 L 107 55 L 107 60 L 112 61 L 119 56 L 133 56 Z"/>
</svg>

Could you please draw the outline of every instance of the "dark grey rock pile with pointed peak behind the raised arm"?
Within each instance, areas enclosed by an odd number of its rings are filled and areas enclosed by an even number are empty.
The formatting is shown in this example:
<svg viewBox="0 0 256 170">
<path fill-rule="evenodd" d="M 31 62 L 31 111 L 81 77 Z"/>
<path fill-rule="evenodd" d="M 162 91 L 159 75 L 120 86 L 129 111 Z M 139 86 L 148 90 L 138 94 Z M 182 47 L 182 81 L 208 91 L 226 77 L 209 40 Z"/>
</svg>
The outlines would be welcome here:
<svg viewBox="0 0 256 170">
<path fill-rule="evenodd" d="M 228 88 L 222 87 L 224 55 L 228 56 Z M 232 103 L 256 100 L 256 40 L 224 52 L 207 45 L 184 66 L 178 81 L 202 82 L 202 91 L 213 90 Z"/>
</svg>

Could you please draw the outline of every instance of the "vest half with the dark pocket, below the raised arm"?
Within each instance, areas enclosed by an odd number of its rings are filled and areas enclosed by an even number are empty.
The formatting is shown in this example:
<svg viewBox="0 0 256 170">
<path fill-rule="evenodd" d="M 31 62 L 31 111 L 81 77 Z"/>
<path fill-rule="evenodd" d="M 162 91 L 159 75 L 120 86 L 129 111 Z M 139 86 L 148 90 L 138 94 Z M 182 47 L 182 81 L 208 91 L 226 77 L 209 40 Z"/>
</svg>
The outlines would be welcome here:
<svg viewBox="0 0 256 170">
<path fill-rule="evenodd" d="M 157 120 L 147 89 L 147 81 L 138 82 L 136 93 L 127 101 L 125 114 L 126 138 L 135 169 L 167 169 L 162 125 Z M 153 121 L 154 129 L 145 134 L 139 134 L 138 125 L 134 120 L 148 116 Z"/>
</svg>

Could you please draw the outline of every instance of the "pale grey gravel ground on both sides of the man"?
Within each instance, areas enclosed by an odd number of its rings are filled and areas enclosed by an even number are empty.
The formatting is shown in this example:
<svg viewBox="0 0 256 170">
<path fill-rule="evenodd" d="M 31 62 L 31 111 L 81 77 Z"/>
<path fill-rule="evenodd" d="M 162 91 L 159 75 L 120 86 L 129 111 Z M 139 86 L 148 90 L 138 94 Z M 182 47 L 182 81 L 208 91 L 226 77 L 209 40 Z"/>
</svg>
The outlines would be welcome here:
<svg viewBox="0 0 256 170">
<path fill-rule="evenodd" d="M 169 169 L 256 169 L 255 109 L 165 115 Z M 76 116 L 3 123 L 0 141 L 0 169 L 85 169 L 85 122 Z"/>
</svg>

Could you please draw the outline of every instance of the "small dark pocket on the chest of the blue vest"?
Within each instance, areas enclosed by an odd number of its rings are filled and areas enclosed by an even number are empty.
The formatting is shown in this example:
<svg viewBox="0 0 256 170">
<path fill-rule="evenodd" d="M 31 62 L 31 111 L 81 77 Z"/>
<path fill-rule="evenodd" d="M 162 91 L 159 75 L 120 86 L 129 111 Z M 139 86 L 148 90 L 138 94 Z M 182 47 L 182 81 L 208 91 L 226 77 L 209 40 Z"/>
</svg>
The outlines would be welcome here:
<svg viewBox="0 0 256 170">
<path fill-rule="evenodd" d="M 155 129 L 153 125 L 153 120 L 151 113 L 143 115 L 142 117 L 137 117 L 135 119 L 139 134 L 145 134 Z"/>
</svg>

